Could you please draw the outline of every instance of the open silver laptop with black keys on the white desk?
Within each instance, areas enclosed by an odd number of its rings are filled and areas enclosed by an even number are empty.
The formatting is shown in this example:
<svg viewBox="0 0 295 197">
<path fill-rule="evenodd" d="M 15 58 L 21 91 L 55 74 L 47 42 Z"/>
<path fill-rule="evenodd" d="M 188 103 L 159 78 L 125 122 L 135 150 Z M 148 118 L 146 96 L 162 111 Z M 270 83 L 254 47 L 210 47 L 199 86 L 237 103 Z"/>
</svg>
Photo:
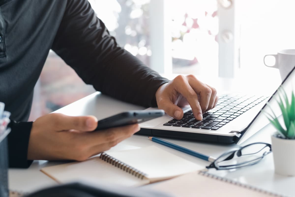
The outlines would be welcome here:
<svg viewBox="0 0 295 197">
<path fill-rule="evenodd" d="M 295 67 L 281 84 L 286 92 L 291 92 L 292 87 L 295 87 L 294 69 Z M 281 115 L 277 98 L 278 89 L 271 96 L 220 95 L 217 106 L 204 113 L 202 121 L 196 120 L 190 106 L 186 106 L 181 120 L 166 114 L 140 123 L 141 129 L 137 134 L 241 144 L 269 123 L 266 115 L 261 113 L 262 110 L 270 113 L 271 108 L 276 115 Z"/>
</svg>

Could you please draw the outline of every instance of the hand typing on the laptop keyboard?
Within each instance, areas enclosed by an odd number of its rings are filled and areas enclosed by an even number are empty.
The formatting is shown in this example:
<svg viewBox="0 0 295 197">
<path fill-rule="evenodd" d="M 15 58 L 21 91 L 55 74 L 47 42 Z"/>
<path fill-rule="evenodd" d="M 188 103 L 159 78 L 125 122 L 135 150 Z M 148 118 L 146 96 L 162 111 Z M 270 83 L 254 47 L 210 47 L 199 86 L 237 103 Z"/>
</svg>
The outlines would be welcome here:
<svg viewBox="0 0 295 197">
<path fill-rule="evenodd" d="M 202 114 L 216 106 L 216 95 L 216 89 L 200 82 L 194 75 L 178 75 L 171 82 L 159 87 L 156 100 L 159 109 L 178 120 L 183 117 L 180 107 L 188 104 L 195 118 L 202 120 Z"/>
</svg>

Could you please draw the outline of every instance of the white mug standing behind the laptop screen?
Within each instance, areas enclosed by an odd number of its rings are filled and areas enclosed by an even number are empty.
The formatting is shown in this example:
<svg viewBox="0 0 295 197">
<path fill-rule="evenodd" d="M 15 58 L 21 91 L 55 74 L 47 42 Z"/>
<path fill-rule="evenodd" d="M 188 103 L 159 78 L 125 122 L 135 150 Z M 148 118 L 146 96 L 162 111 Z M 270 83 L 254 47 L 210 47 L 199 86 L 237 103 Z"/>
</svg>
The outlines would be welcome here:
<svg viewBox="0 0 295 197">
<path fill-rule="evenodd" d="M 266 56 L 273 56 L 276 58 L 276 63 L 273 66 L 269 66 L 265 63 Z M 295 66 L 295 49 L 285 49 L 279 51 L 276 55 L 266 55 L 263 58 L 263 62 L 266 66 L 279 69 L 282 81 L 286 78 L 289 72 Z"/>
</svg>

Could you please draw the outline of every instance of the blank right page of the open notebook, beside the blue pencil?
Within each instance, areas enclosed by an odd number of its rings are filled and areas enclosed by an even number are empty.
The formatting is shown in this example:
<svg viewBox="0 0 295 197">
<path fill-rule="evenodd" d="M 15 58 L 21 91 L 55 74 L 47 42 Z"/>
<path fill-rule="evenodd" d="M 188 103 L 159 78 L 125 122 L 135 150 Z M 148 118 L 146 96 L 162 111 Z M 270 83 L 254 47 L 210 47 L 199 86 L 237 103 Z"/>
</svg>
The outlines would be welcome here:
<svg viewBox="0 0 295 197">
<path fill-rule="evenodd" d="M 204 168 L 157 146 L 108 152 L 108 154 L 147 174 L 151 181 L 164 180 Z"/>
</svg>

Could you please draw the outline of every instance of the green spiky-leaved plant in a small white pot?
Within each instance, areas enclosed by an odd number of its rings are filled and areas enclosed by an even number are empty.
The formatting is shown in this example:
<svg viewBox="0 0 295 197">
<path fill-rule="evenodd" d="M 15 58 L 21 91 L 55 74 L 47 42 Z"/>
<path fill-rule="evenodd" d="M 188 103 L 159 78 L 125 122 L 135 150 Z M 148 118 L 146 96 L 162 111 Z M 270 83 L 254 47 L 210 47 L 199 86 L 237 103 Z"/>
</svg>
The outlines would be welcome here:
<svg viewBox="0 0 295 197">
<path fill-rule="evenodd" d="M 279 122 L 272 109 L 273 115 L 266 113 L 268 120 L 277 130 L 271 136 L 275 172 L 284 176 L 295 176 L 295 96 L 292 91 L 289 102 L 286 91 L 283 88 L 278 90 L 277 103 L 282 112 L 283 123 Z"/>
</svg>

